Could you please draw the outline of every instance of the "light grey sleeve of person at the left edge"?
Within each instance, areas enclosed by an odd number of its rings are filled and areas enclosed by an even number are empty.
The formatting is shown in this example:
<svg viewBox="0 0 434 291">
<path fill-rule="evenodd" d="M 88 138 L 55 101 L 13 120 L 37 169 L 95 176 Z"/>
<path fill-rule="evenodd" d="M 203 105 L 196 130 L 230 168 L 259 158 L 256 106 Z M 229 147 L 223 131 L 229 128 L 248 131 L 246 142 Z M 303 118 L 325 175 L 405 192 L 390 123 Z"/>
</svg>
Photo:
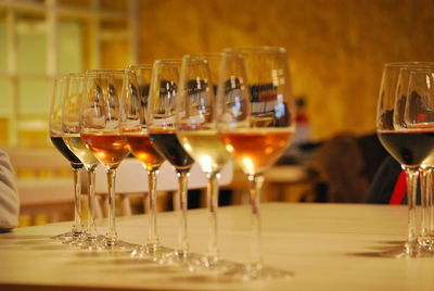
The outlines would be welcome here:
<svg viewBox="0 0 434 291">
<path fill-rule="evenodd" d="M 0 149 L 0 232 L 18 225 L 20 200 L 8 154 Z"/>
</svg>

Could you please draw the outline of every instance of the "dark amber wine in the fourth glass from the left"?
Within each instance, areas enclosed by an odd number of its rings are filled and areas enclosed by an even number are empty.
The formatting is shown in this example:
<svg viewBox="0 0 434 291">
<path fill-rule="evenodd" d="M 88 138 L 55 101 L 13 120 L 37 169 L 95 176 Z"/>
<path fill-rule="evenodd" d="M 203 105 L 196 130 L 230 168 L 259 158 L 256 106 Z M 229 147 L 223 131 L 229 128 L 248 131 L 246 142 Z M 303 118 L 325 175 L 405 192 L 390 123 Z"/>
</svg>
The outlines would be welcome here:
<svg viewBox="0 0 434 291">
<path fill-rule="evenodd" d="M 164 157 L 155 150 L 146 134 L 123 134 L 128 150 L 139 160 L 146 170 L 155 170 L 164 162 Z"/>
</svg>

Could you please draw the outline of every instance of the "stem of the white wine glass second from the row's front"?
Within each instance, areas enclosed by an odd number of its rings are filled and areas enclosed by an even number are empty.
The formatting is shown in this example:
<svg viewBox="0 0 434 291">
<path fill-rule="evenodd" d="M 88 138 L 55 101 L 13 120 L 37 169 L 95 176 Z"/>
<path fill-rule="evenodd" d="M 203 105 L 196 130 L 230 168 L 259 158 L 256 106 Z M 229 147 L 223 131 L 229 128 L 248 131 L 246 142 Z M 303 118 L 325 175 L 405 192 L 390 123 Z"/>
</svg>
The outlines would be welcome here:
<svg viewBox="0 0 434 291">
<path fill-rule="evenodd" d="M 208 200 L 208 261 L 217 262 L 219 260 L 218 253 L 218 236 L 217 236 L 217 210 L 218 210 L 218 173 L 207 173 L 206 178 L 208 185 L 206 194 Z"/>
</svg>

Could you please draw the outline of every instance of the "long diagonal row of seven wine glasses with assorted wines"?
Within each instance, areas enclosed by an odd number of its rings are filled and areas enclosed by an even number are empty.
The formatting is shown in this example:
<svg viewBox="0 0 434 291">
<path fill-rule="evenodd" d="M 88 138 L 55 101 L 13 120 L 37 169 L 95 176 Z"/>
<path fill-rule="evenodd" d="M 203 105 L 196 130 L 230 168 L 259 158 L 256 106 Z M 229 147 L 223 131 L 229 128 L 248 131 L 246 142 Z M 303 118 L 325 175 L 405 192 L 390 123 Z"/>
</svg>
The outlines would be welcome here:
<svg viewBox="0 0 434 291">
<path fill-rule="evenodd" d="M 219 54 L 157 60 L 153 66 L 89 71 L 62 78 L 66 79 L 66 89 L 60 89 L 62 105 L 53 102 L 50 135 L 59 138 L 67 156 L 75 159 L 69 157 L 74 169 L 85 165 L 88 172 L 90 218 L 82 227 L 76 206 L 72 231 L 78 233 L 75 236 L 81 238 L 85 248 L 132 250 L 133 256 L 189 269 L 201 266 L 243 279 L 291 276 L 263 266 L 259 218 L 264 170 L 289 147 L 295 130 L 284 49 L 227 49 Z M 151 213 L 149 238 L 143 245 L 120 241 L 115 225 L 116 168 L 128 153 L 143 164 L 149 175 Z M 231 157 L 251 182 L 252 251 L 245 267 L 221 260 L 218 249 L 218 177 Z M 164 160 L 174 166 L 179 182 L 175 250 L 161 245 L 156 229 L 155 186 Z M 191 253 L 187 236 L 187 184 L 194 161 L 208 180 L 206 255 Z M 93 218 L 93 172 L 98 162 L 105 168 L 108 185 L 108 230 L 103 239 L 97 236 Z"/>
</svg>

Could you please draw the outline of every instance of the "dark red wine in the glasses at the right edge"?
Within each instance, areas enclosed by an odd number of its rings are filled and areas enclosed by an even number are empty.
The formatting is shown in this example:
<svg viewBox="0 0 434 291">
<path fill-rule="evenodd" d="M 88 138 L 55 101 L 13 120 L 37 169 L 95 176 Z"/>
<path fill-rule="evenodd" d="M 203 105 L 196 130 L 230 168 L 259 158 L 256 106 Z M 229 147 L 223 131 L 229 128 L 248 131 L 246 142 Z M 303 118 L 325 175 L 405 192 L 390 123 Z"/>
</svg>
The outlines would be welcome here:
<svg viewBox="0 0 434 291">
<path fill-rule="evenodd" d="M 406 166 L 419 166 L 434 150 L 434 131 L 379 131 L 383 147 Z"/>
</svg>

